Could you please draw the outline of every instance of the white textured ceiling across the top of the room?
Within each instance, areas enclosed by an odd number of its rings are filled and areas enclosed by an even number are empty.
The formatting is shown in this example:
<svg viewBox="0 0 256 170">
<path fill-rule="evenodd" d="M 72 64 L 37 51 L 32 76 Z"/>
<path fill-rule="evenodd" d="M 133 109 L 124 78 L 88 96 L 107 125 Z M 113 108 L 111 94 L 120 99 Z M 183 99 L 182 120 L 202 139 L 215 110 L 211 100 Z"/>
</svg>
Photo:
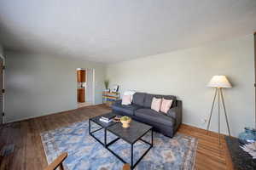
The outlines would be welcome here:
<svg viewBox="0 0 256 170">
<path fill-rule="evenodd" d="M 0 43 L 113 63 L 253 34 L 256 0 L 1 0 Z"/>
</svg>

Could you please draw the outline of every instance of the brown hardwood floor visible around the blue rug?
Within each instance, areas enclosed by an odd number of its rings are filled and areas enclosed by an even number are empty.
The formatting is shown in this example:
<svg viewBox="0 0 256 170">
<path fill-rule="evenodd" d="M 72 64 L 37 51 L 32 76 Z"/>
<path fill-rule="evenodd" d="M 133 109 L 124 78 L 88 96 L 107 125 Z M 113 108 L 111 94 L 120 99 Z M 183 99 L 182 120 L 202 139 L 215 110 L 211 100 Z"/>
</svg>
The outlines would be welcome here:
<svg viewBox="0 0 256 170">
<path fill-rule="evenodd" d="M 65 111 L 0 126 L 1 150 L 5 145 L 15 144 L 13 153 L 0 157 L 0 169 L 44 169 L 47 167 L 47 161 L 40 133 L 67 126 L 73 122 L 81 122 L 91 116 L 101 115 L 108 111 L 110 109 L 104 105 L 87 106 L 74 111 Z M 196 169 L 229 169 L 223 136 L 221 145 L 218 145 L 217 133 L 207 135 L 205 130 L 188 125 L 182 125 L 178 132 L 198 139 Z"/>
</svg>

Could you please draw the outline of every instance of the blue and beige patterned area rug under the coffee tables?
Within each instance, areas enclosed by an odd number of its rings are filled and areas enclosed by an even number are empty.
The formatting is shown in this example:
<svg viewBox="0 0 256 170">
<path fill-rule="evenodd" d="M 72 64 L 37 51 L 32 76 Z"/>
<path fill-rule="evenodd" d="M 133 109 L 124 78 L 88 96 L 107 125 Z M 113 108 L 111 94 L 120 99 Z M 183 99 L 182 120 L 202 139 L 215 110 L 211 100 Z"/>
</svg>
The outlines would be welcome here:
<svg viewBox="0 0 256 170">
<path fill-rule="evenodd" d="M 123 162 L 113 156 L 111 152 L 99 144 L 89 135 L 88 121 L 76 122 L 68 127 L 41 133 L 47 161 L 52 162 L 62 152 L 67 152 L 64 167 L 68 170 L 121 170 Z M 98 128 L 91 124 L 92 130 Z M 103 130 L 96 132 L 98 138 L 103 141 Z M 117 138 L 108 132 L 108 141 Z M 150 141 L 150 133 L 143 139 Z M 193 169 L 197 139 L 185 136 L 181 133 L 170 139 L 160 133 L 154 133 L 154 147 L 148 151 L 143 160 L 137 164 L 137 170 L 150 169 Z M 111 150 L 130 162 L 131 145 L 119 139 L 110 146 Z M 134 145 L 134 162 L 142 156 L 148 144 L 137 141 Z"/>
</svg>

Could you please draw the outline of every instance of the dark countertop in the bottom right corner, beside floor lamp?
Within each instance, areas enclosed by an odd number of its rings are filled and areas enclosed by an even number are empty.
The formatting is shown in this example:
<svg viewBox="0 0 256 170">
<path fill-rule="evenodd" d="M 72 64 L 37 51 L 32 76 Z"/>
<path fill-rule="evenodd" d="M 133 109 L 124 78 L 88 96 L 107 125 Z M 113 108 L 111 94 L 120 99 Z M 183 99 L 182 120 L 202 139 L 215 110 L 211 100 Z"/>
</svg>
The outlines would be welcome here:
<svg viewBox="0 0 256 170">
<path fill-rule="evenodd" d="M 253 159 L 247 152 L 241 149 L 239 140 L 234 137 L 225 136 L 233 167 L 237 170 L 255 170 L 256 159 Z"/>
</svg>

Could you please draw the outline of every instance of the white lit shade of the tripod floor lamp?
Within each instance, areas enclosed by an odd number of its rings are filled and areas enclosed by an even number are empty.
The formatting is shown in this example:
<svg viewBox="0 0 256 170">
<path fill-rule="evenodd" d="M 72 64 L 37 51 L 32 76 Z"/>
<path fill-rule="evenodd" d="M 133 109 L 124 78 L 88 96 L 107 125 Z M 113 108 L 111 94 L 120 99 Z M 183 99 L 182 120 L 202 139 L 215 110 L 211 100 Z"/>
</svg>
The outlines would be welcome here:
<svg viewBox="0 0 256 170">
<path fill-rule="evenodd" d="M 232 88 L 229 80 L 225 76 L 214 76 L 208 83 L 208 87 L 212 88 Z"/>
</svg>

